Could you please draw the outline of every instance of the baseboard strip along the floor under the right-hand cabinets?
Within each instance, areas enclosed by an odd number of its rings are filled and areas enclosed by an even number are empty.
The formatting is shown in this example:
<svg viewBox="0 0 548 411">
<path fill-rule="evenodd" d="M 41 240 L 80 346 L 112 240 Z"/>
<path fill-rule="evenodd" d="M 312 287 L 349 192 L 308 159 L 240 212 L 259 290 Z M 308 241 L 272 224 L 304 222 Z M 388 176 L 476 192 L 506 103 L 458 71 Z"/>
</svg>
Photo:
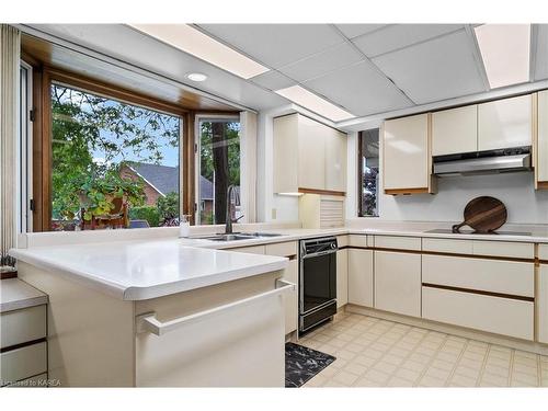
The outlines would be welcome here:
<svg viewBox="0 0 548 411">
<path fill-rule="evenodd" d="M 344 308 L 344 311 L 346 311 L 346 312 L 375 317 L 375 318 L 379 318 L 383 320 L 389 320 L 389 321 L 393 321 L 393 322 L 400 322 L 403 324 L 424 328 L 427 330 L 438 331 L 438 332 L 443 332 L 446 334 L 463 336 L 465 339 L 472 339 L 472 340 L 478 340 L 478 341 L 482 341 L 482 342 L 490 343 L 490 344 L 504 345 L 504 346 L 507 346 L 511 349 L 527 351 L 527 352 L 535 353 L 535 354 L 548 355 L 548 345 L 541 344 L 538 342 L 534 342 L 534 341 L 518 340 L 518 339 L 514 339 L 511 336 L 492 334 L 489 332 L 471 330 L 471 329 L 458 327 L 458 326 L 445 324 L 442 322 L 425 320 L 422 318 L 408 317 L 408 316 L 402 316 L 399 313 L 381 311 L 381 310 L 377 310 L 375 308 L 355 306 L 353 304 L 349 304 L 342 308 Z"/>
</svg>

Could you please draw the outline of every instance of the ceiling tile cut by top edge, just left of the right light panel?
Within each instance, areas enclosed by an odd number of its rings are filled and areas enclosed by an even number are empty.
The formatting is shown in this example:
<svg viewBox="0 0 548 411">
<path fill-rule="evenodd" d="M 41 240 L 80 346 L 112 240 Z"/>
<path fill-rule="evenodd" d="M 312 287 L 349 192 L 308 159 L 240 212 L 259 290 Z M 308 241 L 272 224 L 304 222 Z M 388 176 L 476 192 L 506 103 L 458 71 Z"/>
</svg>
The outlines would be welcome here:
<svg viewBox="0 0 548 411">
<path fill-rule="evenodd" d="M 368 57 L 397 50 L 463 28 L 463 24 L 392 24 L 352 42 Z"/>
</svg>

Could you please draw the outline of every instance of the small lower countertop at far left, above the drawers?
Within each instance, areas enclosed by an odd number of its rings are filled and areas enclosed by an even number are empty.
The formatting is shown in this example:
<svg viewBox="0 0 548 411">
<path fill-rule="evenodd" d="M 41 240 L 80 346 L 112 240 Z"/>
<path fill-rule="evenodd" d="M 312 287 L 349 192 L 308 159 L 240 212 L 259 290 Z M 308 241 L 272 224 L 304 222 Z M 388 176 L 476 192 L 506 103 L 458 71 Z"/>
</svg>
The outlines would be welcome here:
<svg viewBox="0 0 548 411">
<path fill-rule="evenodd" d="M 47 295 L 19 278 L 0 281 L 0 312 L 47 304 Z"/>
</svg>

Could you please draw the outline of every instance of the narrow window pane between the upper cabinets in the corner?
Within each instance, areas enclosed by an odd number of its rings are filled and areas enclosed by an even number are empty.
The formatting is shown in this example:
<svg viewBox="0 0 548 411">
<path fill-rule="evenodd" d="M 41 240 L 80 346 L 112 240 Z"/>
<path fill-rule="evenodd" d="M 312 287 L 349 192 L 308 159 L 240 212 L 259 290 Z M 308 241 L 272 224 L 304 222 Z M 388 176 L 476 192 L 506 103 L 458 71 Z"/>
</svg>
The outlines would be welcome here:
<svg viewBox="0 0 548 411">
<path fill-rule="evenodd" d="M 379 129 L 358 135 L 359 217 L 378 217 Z"/>
</svg>

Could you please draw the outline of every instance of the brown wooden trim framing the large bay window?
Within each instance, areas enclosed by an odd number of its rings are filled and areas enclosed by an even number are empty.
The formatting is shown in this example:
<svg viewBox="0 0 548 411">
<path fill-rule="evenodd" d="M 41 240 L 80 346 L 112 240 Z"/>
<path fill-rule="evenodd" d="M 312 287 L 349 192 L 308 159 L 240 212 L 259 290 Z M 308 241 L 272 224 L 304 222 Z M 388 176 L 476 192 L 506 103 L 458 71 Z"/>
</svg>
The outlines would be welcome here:
<svg viewBox="0 0 548 411">
<path fill-rule="evenodd" d="M 195 164 L 194 164 L 194 124 L 196 115 L 204 114 L 238 114 L 220 111 L 191 111 L 184 106 L 168 103 L 156 98 L 136 93 L 115 84 L 109 84 L 89 77 L 64 71 L 43 65 L 34 58 L 23 55 L 23 59 L 33 66 L 33 110 L 36 113 L 33 123 L 33 231 L 50 231 L 52 221 L 52 101 L 53 83 L 72 87 L 107 99 L 138 105 L 145 109 L 176 115 L 183 121 L 183 135 L 180 141 L 183 148 L 180 153 L 182 162 L 181 201 L 183 214 L 191 215 L 195 221 Z"/>
</svg>

